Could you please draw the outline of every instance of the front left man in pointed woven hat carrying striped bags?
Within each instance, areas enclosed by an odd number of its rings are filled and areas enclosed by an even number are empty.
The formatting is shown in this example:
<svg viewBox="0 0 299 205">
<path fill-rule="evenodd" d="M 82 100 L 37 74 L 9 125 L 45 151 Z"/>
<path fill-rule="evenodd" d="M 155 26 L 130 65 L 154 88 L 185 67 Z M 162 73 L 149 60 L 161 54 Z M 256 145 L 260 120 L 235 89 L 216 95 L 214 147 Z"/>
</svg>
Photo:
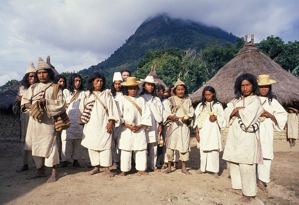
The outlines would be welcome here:
<svg viewBox="0 0 299 205">
<path fill-rule="evenodd" d="M 29 117 L 25 150 L 32 150 L 32 157 L 38 171 L 29 176 L 28 179 L 45 177 L 45 166 L 53 167 L 52 175 L 48 183 L 57 181 L 59 164 L 59 154 L 57 148 L 57 131 L 55 129 L 53 117 L 65 112 L 65 99 L 62 90 L 54 90 L 54 72 L 51 67 L 39 58 L 36 69 L 37 82 L 31 85 L 22 97 L 21 111 L 31 114 L 36 110 L 42 110 L 41 116 Z M 58 92 L 57 99 L 53 99 L 54 92 Z M 39 109 L 35 109 L 35 105 Z M 30 114 L 30 115 L 31 115 Z"/>
</svg>

